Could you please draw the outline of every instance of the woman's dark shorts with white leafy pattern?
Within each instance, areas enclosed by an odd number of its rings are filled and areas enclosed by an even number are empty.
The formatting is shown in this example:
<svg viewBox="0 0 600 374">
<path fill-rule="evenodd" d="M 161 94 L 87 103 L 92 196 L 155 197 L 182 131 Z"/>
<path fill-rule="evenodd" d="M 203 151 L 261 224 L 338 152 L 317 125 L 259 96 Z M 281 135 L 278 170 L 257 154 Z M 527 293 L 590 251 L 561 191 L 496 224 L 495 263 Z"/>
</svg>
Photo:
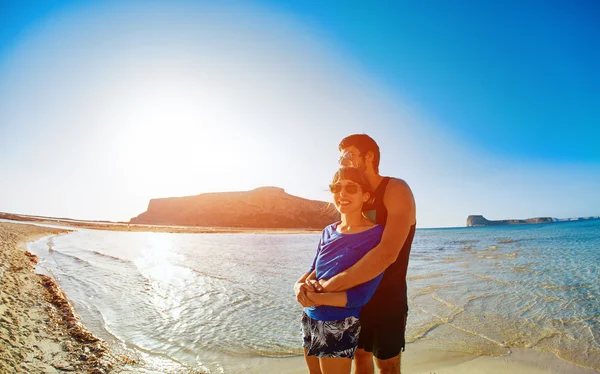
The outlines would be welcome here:
<svg viewBox="0 0 600 374">
<path fill-rule="evenodd" d="M 360 321 L 356 317 L 318 321 L 302 312 L 303 347 L 308 350 L 308 356 L 352 359 L 359 333 Z"/>
</svg>

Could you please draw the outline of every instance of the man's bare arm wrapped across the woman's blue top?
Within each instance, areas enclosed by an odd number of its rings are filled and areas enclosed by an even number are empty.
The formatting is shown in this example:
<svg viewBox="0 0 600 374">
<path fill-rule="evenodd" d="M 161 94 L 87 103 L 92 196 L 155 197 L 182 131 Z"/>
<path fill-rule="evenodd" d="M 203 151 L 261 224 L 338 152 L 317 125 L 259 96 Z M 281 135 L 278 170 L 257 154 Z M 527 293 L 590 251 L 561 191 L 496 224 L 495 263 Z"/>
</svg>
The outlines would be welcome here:
<svg viewBox="0 0 600 374">
<path fill-rule="evenodd" d="M 415 201 L 403 180 L 391 179 L 383 198 L 387 222 L 379 245 L 349 269 L 322 282 L 323 292 L 336 292 L 365 283 L 381 274 L 398 258 L 400 249 L 415 223 Z"/>
</svg>

